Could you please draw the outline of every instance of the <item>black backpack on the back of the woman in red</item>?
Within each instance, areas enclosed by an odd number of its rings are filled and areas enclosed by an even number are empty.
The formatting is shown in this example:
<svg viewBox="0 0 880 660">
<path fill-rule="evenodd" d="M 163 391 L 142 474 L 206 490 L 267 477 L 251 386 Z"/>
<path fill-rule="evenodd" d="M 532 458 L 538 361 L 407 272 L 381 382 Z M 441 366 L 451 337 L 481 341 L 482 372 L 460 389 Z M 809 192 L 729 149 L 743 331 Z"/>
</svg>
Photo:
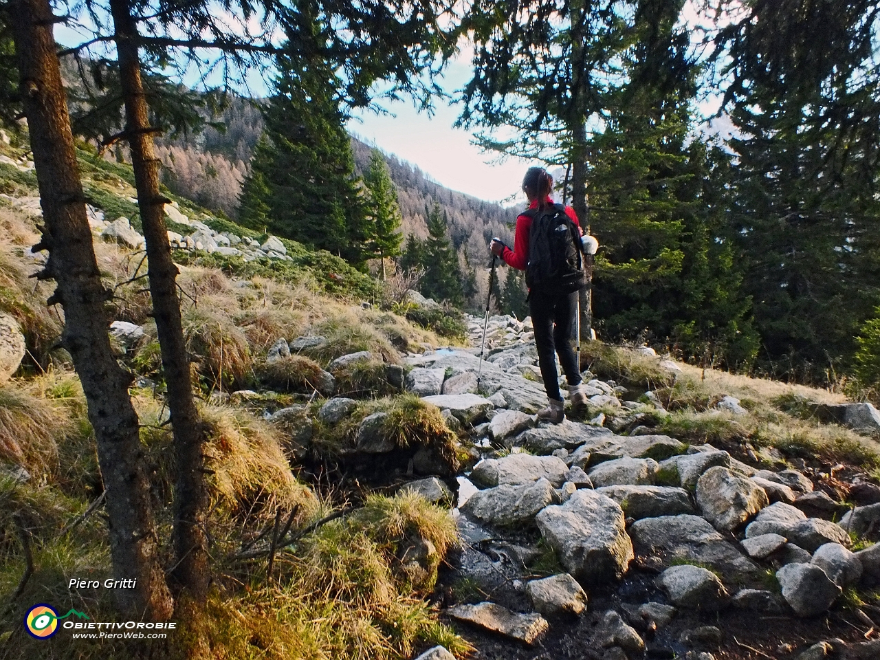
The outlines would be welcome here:
<svg viewBox="0 0 880 660">
<path fill-rule="evenodd" d="M 561 204 L 543 210 L 529 209 L 532 218 L 529 232 L 529 262 L 525 283 L 529 290 L 567 294 L 587 283 L 583 263 L 581 232 Z"/>
</svg>

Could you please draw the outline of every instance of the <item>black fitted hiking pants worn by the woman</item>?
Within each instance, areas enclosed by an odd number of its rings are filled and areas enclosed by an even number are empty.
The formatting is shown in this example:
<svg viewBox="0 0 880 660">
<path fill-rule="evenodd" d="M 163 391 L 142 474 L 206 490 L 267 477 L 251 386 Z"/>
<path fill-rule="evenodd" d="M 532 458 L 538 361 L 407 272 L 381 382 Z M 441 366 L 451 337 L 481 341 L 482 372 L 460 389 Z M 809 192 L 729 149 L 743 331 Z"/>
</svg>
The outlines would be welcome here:
<svg viewBox="0 0 880 660">
<path fill-rule="evenodd" d="M 529 297 L 532 326 L 535 331 L 535 348 L 547 397 L 562 400 L 559 392 L 559 375 L 556 373 L 554 352 L 559 353 L 559 363 L 568 379 L 568 385 L 579 385 L 581 368 L 577 363 L 571 341 L 574 337 L 577 291 L 558 296 L 532 291 Z"/>
</svg>

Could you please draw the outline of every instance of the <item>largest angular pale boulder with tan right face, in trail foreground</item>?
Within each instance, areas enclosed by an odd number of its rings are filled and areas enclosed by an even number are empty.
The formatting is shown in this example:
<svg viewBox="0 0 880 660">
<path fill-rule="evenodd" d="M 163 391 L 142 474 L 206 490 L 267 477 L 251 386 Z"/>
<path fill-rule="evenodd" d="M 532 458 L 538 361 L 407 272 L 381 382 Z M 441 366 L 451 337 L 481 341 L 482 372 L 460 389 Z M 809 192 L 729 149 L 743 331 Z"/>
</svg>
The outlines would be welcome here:
<svg viewBox="0 0 880 660">
<path fill-rule="evenodd" d="M 535 521 L 562 567 L 579 582 L 605 582 L 627 572 L 633 544 L 623 511 L 611 498 L 578 490 L 568 502 L 546 507 Z"/>
</svg>

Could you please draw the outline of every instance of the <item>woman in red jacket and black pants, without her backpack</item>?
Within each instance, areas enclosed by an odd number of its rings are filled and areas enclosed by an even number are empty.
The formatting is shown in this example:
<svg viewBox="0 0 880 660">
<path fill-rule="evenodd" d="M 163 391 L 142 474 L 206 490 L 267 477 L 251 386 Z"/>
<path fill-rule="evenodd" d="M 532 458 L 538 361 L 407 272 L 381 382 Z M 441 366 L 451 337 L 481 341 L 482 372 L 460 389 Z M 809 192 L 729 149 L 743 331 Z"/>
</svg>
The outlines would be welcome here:
<svg viewBox="0 0 880 660">
<path fill-rule="evenodd" d="M 554 206 L 550 199 L 553 190 L 553 177 L 542 167 L 530 167 L 525 172 L 523 192 L 529 199 L 529 208 L 517 217 L 517 231 L 513 249 L 505 246 L 497 238 L 492 239 L 490 249 L 497 257 L 518 270 L 528 266 L 529 239 L 532 222 L 547 209 Z M 561 209 L 561 207 L 559 207 Z M 551 209 L 552 210 L 552 209 Z M 565 207 L 565 214 L 575 224 L 577 232 L 583 234 L 577 222 L 575 210 Z M 570 225 L 569 225 L 570 226 Z M 580 241 L 580 237 L 578 237 Z M 583 256 L 583 254 L 582 254 Z M 565 402 L 559 390 L 559 377 L 556 373 L 554 352 L 559 354 L 559 362 L 568 380 L 568 394 L 572 407 L 582 407 L 587 400 L 582 384 L 581 369 L 577 363 L 575 350 L 571 346 L 571 336 L 577 313 L 577 290 L 547 290 L 530 287 L 529 311 L 532 313 L 532 326 L 535 331 L 535 345 L 538 348 L 538 361 L 544 389 L 550 405 L 538 413 L 543 422 L 558 424 L 565 420 Z"/>
</svg>

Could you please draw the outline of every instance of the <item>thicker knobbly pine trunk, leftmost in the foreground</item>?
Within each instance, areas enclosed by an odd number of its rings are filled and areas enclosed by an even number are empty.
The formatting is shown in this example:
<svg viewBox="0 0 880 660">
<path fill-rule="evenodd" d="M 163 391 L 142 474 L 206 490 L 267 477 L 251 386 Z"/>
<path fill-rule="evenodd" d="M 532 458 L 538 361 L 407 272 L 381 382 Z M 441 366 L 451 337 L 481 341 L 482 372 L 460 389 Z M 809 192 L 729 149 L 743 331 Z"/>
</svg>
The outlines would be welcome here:
<svg viewBox="0 0 880 660">
<path fill-rule="evenodd" d="M 85 213 L 52 34 L 57 20 L 48 0 L 15 0 L 8 6 L 45 223 L 35 248 L 49 253 L 40 279 L 57 282 L 48 302 L 64 309 L 62 344 L 73 357 L 95 431 L 114 576 L 137 580 L 135 589 L 115 590 L 114 596 L 130 616 L 165 620 L 172 615 L 172 598 L 158 561 L 150 481 L 128 396 L 131 377 L 116 362 L 107 334 L 110 292 L 100 280 Z"/>
</svg>

